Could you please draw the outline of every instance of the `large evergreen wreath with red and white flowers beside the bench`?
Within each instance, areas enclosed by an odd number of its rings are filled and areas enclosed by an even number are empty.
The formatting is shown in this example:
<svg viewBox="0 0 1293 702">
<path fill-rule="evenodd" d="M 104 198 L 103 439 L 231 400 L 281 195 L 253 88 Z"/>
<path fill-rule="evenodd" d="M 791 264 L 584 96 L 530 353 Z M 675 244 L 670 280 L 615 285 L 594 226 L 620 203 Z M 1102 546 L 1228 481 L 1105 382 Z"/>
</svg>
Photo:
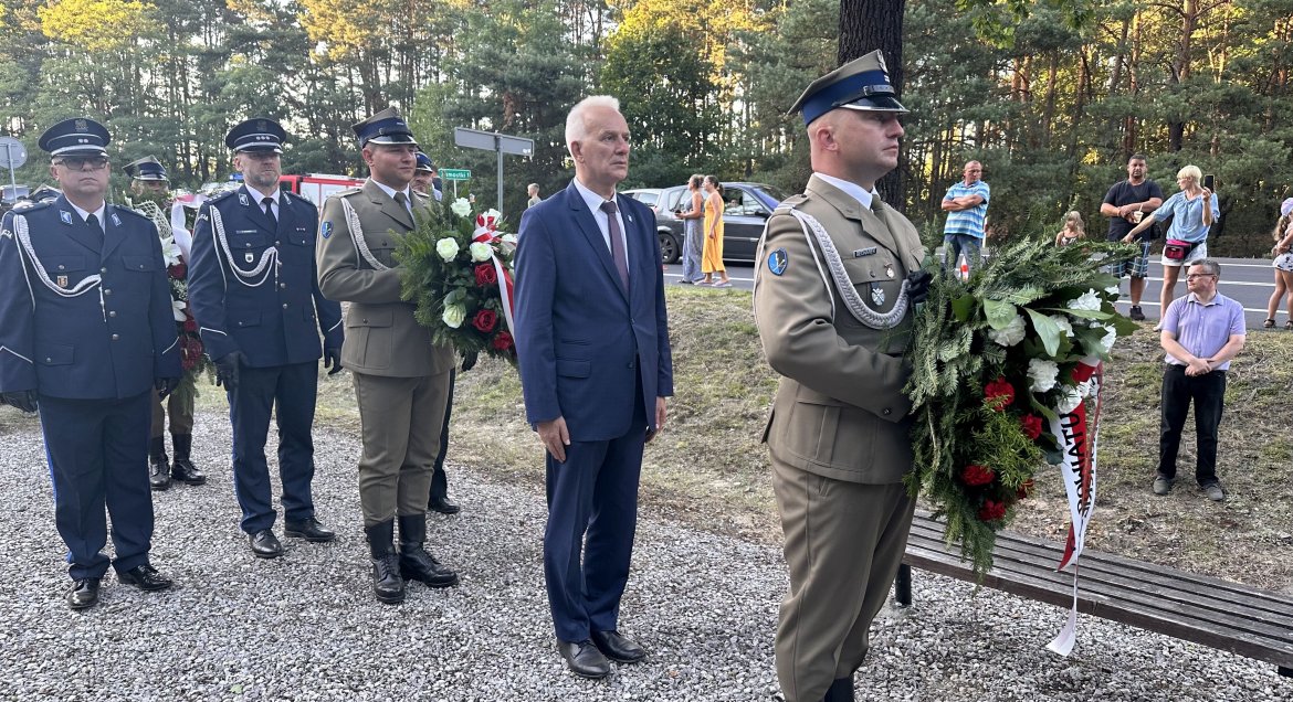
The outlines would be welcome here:
<svg viewBox="0 0 1293 702">
<path fill-rule="evenodd" d="M 980 577 L 997 532 L 1047 466 L 1067 471 L 1069 550 L 1081 552 L 1102 361 L 1137 328 L 1115 310 L 1118 281 L 1099 266 L 1129 257 L 1118 244 L 1025 240 L 996 250 L 968 280 L 936 276 L 915 315 L 908 486 L 932 503 L 948 543 Z"/>
</svg>

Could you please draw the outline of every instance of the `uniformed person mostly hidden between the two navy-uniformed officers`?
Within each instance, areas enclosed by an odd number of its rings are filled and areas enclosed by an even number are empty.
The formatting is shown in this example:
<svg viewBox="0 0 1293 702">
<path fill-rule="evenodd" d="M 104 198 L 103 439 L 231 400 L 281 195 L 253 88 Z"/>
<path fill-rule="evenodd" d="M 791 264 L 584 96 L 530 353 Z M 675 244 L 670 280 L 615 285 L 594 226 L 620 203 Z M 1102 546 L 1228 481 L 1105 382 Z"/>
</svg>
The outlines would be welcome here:
<svg viewBox="0 0 1293 702">
<path fill-rule="evenodd" d="M 147 199 L 156 204 L 155 213 L 160 219 L 154 219 L 158 234 L 162 239 L 172 239 L 180 248 L 180 263 L 167 267 L 167 276 L 176 280 L 185 280 L 184 263 L 189 259 L 187 232 L 173 231 L 166 213 L 171 209 L 171 179 L 167 178 L 166 166 L 158 161 L 156 156 L 145 156 L 125 164 L 125 174 L 131 178 L 131 195 Z M 136 209 L 144 206 L 141 201 L 134 201 Z M 141 212 L 145 212 L 141 209 Z M 149 214 L 145 212 L 145 216 Z M 172 299 L 175 298 L 173 288 Z M 184 323 L 177 323 L 182 325 Z M 182 351 L 182 347 L 181 347 Z M 166 422 L 171 418 L 171 448 L 175 450 L 175 463 L 166 454 Z M 153 426 L 149 435 L 149 485 L 154 490 L 166 490 L 171 486 L 171 479 L 189 485 L 202 485 L 207 476 L 193 465 L 190 452 L 193 450 L 193 394 L 172 392 L 163 400 L 153 395 Z"/>
</svg>

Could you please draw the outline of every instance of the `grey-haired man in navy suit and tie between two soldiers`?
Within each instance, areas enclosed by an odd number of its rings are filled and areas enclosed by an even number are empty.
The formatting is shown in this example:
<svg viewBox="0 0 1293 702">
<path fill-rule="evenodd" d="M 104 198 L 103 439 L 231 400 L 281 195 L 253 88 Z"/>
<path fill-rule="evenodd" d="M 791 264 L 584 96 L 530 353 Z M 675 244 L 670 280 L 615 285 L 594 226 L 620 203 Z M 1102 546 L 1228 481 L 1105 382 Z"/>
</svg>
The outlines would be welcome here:
<svg viewBox="0 0 1293 702">
<path fill-rule="evenodd" d="M 634 663 L 618 631 L 637 525 L 643 444 L 674 394 L 656 217 L 619 197 L 628 125 L 619 101 L 566 117 L 575 177 L 525 210 L 516 254 L 516 350 L 525 413 L 547 450 L 543 573 L 557 650 L 584 677 Z"/>
</svg>

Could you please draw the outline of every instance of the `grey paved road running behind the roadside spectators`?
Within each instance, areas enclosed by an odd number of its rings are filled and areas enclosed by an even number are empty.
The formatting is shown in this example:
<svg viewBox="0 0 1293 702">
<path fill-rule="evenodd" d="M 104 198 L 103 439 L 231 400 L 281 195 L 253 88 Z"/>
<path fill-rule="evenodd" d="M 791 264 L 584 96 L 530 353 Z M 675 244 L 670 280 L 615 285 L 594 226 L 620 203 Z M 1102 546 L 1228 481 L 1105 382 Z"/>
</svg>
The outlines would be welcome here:
<svg viewBox="0 0 1293 702">
<path fill-rule="evenodd" d="M 1262 321 L 1266 319 L 1266 302 L 1275 290 L 1271 262 L 1261 258 L 1218 258 L 1217 261 L 1222 267 L 1221 292 L 1237 299 L 1244 306 L 1249 329 L 1261 329 Z M 732 279 L 732 286 L 749 290 L 754 283 L 754 268 L 749 263 L 728 263 L 727 267 L 728 276 Z M 681 279 L 681 266 L 665 266 L 665 280 L 667 283 L 676 283 Z M 1159 316 L 1159 289 L 1161 286 L 1162 266 L 1159 265 L 1159 258 L 1153 257 L 1149 259 L 1149 283 L 1146 285 L 1144 298 L 1140 301 L 1140 307 L 1149 319 Z M 1177 284 L 1177 294 L 1182 296 L 1184 293 L 1186 283 L 1182 280 Z M 1124 299 L 1118 302 L 1118 310 L 1124 312 L 1127 310 L 1126 294 L 1127 283 L 1124 280 Z M 1279 321 L 1279 329 L 1283 329 L 1285 306 L 1280 305 L 1279 310 L 1276 320 Z"/>
</svg>

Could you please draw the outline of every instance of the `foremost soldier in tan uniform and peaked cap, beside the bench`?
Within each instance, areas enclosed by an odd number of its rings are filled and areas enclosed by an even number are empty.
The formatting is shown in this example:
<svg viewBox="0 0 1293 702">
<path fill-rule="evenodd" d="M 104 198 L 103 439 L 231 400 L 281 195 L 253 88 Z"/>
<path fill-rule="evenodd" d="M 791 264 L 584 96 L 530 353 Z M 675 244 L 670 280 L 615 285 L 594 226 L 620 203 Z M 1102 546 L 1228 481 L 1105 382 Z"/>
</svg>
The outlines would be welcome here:
<svg viewBox="0 0 1293 702">
<path fill-rule="evenodd" d="M 881 53 L 817 79 L 791 111 L 813 176 L 768 219 L 754 288 L 782 376 L 764 432 L 790 569 L 776 662 L 787 702 L 835 702 L 853 699 L 912 524 L 903 352 L 930 275 L 915 227 L 874 192 L 897 165 L 906 112 Z"/>
</svg>

